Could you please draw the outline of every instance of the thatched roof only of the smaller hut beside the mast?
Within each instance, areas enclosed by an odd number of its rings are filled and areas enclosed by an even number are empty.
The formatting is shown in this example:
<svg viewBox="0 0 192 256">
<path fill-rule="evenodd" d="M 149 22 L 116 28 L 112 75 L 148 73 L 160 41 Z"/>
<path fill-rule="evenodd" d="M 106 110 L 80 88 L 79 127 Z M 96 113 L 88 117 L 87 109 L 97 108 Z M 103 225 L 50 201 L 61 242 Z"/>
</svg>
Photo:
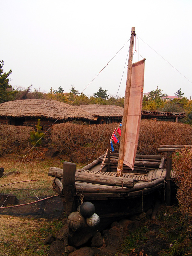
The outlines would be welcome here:
<svg viewBox="0 0 192 256">
<path fill-rule="evenodd" d="M 84 109 L 95 117 L 122 118 L 123 108 L 115 105 L 80 105 L 78 108 Z"/>
</svg>

